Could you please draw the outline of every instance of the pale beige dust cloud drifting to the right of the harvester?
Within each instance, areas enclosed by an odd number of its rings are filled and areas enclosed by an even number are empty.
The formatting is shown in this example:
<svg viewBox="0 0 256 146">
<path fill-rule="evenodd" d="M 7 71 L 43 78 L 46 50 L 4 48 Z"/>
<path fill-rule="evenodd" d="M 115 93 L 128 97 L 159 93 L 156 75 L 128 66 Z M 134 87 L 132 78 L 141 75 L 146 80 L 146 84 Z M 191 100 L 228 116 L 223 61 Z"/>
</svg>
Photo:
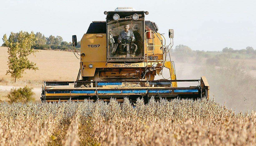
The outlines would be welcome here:
<svg viewBox="0 0 256 146">
<path fill-rule="evenodd" d="M 243 61 L 228 58 L 187 57 L 185 60 L 172 57 L 175 62 L 177 80 L 200 79 L 207 77 L 210 86 L 210 98 L 221 105 L 233 109 L 236 113 L 256 109 L 256 77 L 244 68 Z M 248 60 L 247 60 L 248 61 Z M 163 77 L 169 78 L 169 70 L 163 70 Z M 162 79 L 162 75 L 155 79 Z M 178 83 L 178 86 L 197 86 L 198 83 Z"/>
</svg>

